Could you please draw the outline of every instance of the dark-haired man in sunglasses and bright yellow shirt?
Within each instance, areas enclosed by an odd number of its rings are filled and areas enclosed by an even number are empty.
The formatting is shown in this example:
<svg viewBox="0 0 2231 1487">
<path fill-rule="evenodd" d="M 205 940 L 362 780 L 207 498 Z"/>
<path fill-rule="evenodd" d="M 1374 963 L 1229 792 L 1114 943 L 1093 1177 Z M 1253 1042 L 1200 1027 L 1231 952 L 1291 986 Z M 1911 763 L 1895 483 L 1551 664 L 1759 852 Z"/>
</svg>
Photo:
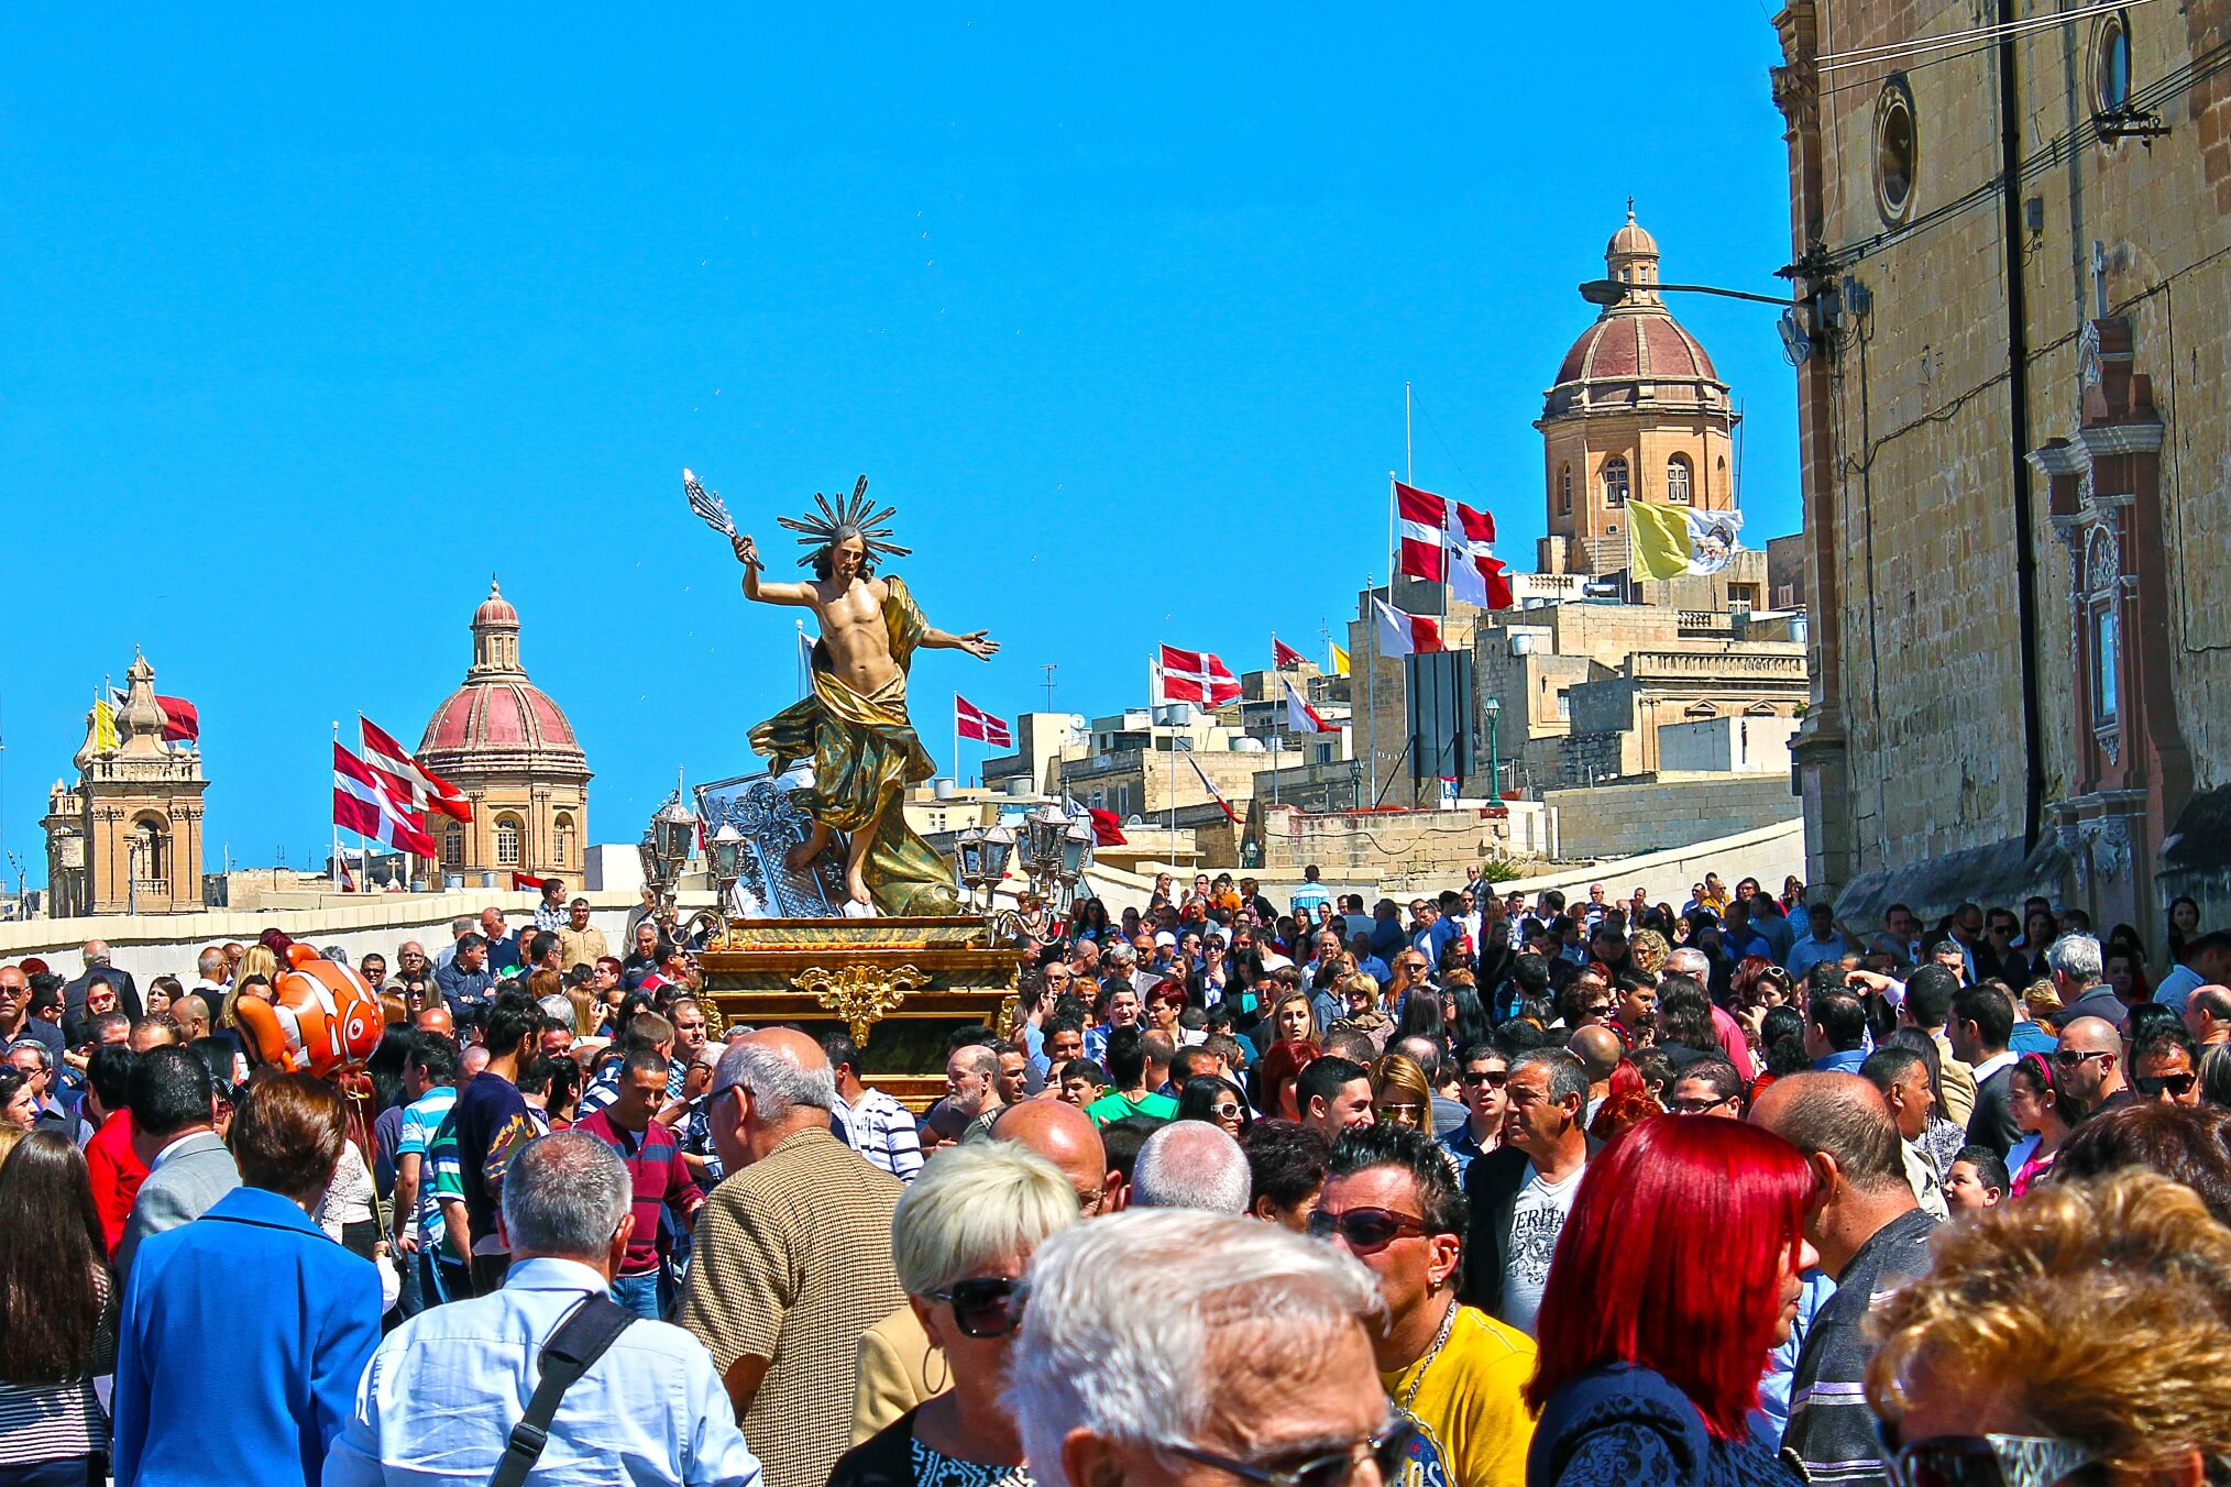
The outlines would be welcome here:
<svg viewBox="0 0 2231 1487">
<path fill-rule="evenodd" d="M 1374 1329 L 1379 1384 L 1419 1433 L 1421 1476 L 1464 1487 L 1519 1487 L 1533 1418 L 1522 1391 L 1535 1369 L 1526 1333 L 1457 1302 L 1470 1213 L 1426 1133 L 1408 1126 L 1350 1130 L 1310 1233 L 1354 1255 L 1379 1282 L 1385 1320 Z"/>
</svg>

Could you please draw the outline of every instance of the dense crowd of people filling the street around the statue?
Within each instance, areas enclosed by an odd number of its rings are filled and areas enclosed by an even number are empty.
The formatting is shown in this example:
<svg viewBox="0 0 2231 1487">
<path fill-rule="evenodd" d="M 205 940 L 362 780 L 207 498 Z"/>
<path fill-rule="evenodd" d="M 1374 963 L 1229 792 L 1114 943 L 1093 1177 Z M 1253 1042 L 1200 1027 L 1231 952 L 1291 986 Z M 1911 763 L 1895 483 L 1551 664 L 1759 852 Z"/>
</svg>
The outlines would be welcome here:
<svg viewBox="0 0 2231 1487">
<path fill-rule="evenodd" d="M 335 1079 L 0 965 L 0 1483 L 2231 1483 L 2195 905 L 1468 878 L 1042 916 L 921 1112 L 562 885 Z"/>
</svg>

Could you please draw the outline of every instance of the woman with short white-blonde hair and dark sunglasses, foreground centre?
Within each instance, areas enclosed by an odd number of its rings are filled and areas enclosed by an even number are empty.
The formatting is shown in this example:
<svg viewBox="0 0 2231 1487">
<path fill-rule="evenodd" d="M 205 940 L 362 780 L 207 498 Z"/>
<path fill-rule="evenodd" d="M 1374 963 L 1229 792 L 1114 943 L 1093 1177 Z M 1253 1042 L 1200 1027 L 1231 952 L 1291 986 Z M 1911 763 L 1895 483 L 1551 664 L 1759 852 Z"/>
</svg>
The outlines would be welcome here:
<svg viewBox="0 0 2231 1487">
<path fill-rule="evenodd" d="M 1031 1253 L 1075 1222 L 1069 1179 L 1013 1141 L 966 1141 L 921 1168 L 890 1217 L 890 1260 L 950 1382 L 846 1451 L 828 1487 L 1031 1483 L 999 1391 Z"/>
</svg>

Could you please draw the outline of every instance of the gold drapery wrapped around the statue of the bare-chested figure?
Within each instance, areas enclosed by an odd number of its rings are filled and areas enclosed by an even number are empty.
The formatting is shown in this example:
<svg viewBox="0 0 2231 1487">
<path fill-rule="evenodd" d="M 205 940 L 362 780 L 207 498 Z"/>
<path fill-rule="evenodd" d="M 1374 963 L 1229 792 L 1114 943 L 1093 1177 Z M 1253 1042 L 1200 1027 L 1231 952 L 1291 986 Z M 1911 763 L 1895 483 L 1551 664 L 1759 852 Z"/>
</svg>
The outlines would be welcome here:
<svg viewBox="0 0 2231 1487">
<path fill-rule="evenodd" d="M 897 577 L 883 580 L 883 626 L 890 660 L 899 673 L 861 696 L 821 669 L 814 647 L 814 693 L 792 702 L 752 729 L 752 749 L 774 774 L 799 760 L 814 762 L 814 783 L 792 791 L 792 800 L 832 832 L 872 825 L 861 876 L 881 914 L 955 914 L 953 872 L 941 856 L 906 825 L 906 787 L 937 774 L 937 765 L 915 738 L 906 716 L 906 671 L 921 644 L 928 620 L 915 595 Z"/>
</svg>

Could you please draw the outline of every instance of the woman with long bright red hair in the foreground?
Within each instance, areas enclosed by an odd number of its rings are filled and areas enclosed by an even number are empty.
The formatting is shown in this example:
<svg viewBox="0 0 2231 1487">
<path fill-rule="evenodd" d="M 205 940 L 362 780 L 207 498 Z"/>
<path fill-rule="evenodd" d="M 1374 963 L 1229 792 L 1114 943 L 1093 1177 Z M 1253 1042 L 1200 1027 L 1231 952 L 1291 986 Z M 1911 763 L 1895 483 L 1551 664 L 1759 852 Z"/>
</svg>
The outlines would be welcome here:
<svg viewBox="0 0 2231 1487">
<path fill-rule="evenodd" d="M 1756 1445 L 1796 1320 L 1812 1168 L 1742 1121 L 1655 1115 L 1588 1164 L 1542 1291 L 1533 1487 L 1796 1487 Z"/>
</svg>

